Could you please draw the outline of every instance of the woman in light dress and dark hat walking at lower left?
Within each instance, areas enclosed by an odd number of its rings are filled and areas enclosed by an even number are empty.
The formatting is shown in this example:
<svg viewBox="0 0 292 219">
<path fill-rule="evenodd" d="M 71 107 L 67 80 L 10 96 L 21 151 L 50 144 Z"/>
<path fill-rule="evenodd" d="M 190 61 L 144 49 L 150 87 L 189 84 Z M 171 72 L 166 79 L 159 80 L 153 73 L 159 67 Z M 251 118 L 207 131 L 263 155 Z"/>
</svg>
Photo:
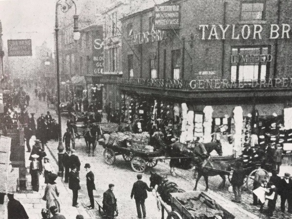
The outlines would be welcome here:
<svg viewBox="0 0 292 219">
<path fill-rule="evenodd" d="M 55 173 L 49 175 L 49 183 L 46 186 L 43 200 L 47 201 L 47 209 L 50 209 L 51 206 L 56 206 L 58 208 L 58 212 L 60 212 L 60 203 L 58 201 L 60 193 L 57 184 L 55 183 L 57 177 L 58 176 Z"/>
</svg>

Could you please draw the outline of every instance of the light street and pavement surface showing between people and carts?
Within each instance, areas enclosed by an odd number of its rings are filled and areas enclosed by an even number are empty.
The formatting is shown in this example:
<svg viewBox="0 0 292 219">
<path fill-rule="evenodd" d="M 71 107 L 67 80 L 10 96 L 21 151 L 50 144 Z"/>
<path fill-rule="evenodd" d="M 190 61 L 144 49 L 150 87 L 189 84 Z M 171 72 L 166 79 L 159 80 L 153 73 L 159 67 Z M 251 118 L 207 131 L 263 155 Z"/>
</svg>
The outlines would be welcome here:
<svg viewBox="0 0 292 219">
<path fill-rule="evenodd" d="M 55 110 L 48 109 L 46 102 L 39 102 L 32 96 L 31 105 L 28 108 L 29 112 L 35 112 L 35 117 L 38 117 L 41 112 L 45 113 L 47 110 L 51 111 L 51 114 L 54 118 L 57 118 Z M 103 118 L 105 119 L 105 118 Z M 62 131 L 66 130 L 66 116 L 62 116 Z M 31 139 L 31 145 L 33 145 L 34 138 Z M 53 165 L 55 172 L 58 170 L 57 159 L 58 159 L 58 151 L 57 151 L 58 143 L 55 141 L 49 141 L 46 146 L 47 156 L 51 160 L 51 164 Z M 136 181 L 137 173 L 131 170 L 130 164 L 125 162 L 122 156 L 116 157 L 116 162 L 113 165 L 105 164 L 103 161 L 103 147 L 96 147 L 94 153 L 88 154 L 85 146 L 84 139 L 76 139 L 75 149 L 77 151 L 77 155 L 81 161 L 81 170 L 80 170 L 80 185 L 81 190 L 79 190 L 79 208 L 72 207 L 72 191 L 68 189 L 68 183 L 64 183 L 60 177 L 57 178 L 56 183 L 60 190 L 60 205 L 61 205 L 61 214 L 63 214 L 67 219 L 74 219 L 77 214 L 81 214 L 85 219 L 98 219 L 100 218 L 97 212 L 97 208 L 93 210 L 87 210 L 86 206 L 89 204 L 89 198 L 87 195 L 86 189 L 86 171 L 83 168 L 84 164 L 90 163 L 92 168 L 91 171 L 95 175 L 95 185 L 96 190 L 94 191 L 95 200 L 101 202 L 103 192 L 108 189 L 109 183 L 115 184 L 114 194 L 117 198 L 117 204 L 119 208 L 119 216 L 118 219 L 137 219 L 136 216 L 136 206 L 135 201 L 130 199 L 130 192 L 132 188 L 132 184 Z M 26 166 L 29 166 L 28 162 L 29 153 L 26 153 Z M 149 175 L 150 168 L 146 169 L 143 177 L 143 181 L 149 184 Z M 185 191 L 192 190 L 195 185 L 195 179 L 193 179 L 193 171 L 191 170 L 179 170 L 177 169 L 177 176 L 173 177 L 169 173 L 169 164 L 166 162 L 159 162 L 156 167 L 152 170 L 158 172 L 162 175 L 166 175 L 169 181 L 177 183 L 180 188 Z M 284 175 L 284 172 L 292 173 L 292 166 L 281 166 L 280 168 L 280 176 Z M 28 175 L 28 182 L 30 182 L 30 176 Z M 277 200 L 276 210 L 274 212 L 274 217 L 267 217 L 264 214 L 259 213 L 259 207 L 252 206 L 250 203 L 253 202 L 252 195 L 248 192 L 243 192 L 242 194 L 242 202 L 237 204 L 231 202 L 230 200 L 234 199 L 232 191 L 228 190 L 229 182 L 226 180 L 226 186 L 223 189 L 219 189 L 219 185 L 222 182 L 222 179 L 219 176 L 214 176 L 209 178 L 209 188 L 210 192 L 214 192 L 224 200 L 228 204 L 234 207 L 239 207 L 243 209 L 243 211 L 247 211 L 251 213 L 253 216 L 250 218 L 259 218 L 259 219 L 288 219 L 292 218 L 291 214 L 281 213 L 280 211 L 280 198 Z M 28 183 L 28 188 L 30 184 Z M 20 193 L 15 194 L 16 199 L 18 199 L 25 207 L 30 219 L 40 219 L 40 211 L 42 208 L 45 208 L 46 202 L 41 198 L 44 194 L 44 179 L 40 177 L 40 191 L 38 193 L 32 192 L 31 190 L 20 191 Z M 198 190 L 203 191 L 205 189 L 204 180 L 198 184 Z M 220 198 L 220 199 L 221 199 Z M 267 204 L 265 205 L 267 206 Z M 286 209 L 287 209 L 286 204 Z M 147 219 L 160 219 L 161 212 L 157 209 L 155 197 L 148 193 L 148 198 L 146 199 L 146 212 Z"/>
</svg>

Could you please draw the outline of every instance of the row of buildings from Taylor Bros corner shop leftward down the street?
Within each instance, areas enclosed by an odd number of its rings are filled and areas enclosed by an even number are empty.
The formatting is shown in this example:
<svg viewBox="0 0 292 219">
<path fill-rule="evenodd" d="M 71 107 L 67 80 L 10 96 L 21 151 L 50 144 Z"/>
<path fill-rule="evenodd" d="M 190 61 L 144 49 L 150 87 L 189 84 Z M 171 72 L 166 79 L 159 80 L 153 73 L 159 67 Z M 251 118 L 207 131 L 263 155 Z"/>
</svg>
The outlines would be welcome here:
<svg viewBox="0 0 292 219">
<path fill-rule="evenodd" d="M 292 95 L 291 6 L 292 0 L 112 0 L 100 12 L 102 25 L 82 29 L 81 47 L 65 37 L 63 73 L 84 76 L 87 95 L 98 91 L 98 101 L 111 102 L 124 119 L 133 120 L 133 105 L 143 118 L 157 103 L 158 110 L 186 103 L 201 123 L 212 107 L 212 131 L 230 130 L 237 106 L 244 117 L 256 109 L 264 121 L 273 114 L 281 120 Z M 103 70 L 96 70 L 95 42 L 102 42 Z"/>
</svg>

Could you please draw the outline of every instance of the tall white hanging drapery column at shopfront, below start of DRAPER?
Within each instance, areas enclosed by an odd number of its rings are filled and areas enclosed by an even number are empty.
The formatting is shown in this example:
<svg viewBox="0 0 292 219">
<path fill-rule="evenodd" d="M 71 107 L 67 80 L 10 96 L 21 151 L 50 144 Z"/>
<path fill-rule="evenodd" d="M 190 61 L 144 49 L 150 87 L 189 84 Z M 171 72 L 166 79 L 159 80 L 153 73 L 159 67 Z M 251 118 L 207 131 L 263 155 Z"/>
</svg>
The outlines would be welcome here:
<svg viewBox="0 0 292 219">
<path fill-rule="evenodd" d="M 235 125 L 235 134 L 234 134 L 234 146 L 233 153 L 235 158 L 241 154 L 241 138 L 242 138 L 242 125 L 243 125 L 243 110 L 241 107 L 235 107 L 233 110 L 234 113 L 234 125 Z"/>
</svg>

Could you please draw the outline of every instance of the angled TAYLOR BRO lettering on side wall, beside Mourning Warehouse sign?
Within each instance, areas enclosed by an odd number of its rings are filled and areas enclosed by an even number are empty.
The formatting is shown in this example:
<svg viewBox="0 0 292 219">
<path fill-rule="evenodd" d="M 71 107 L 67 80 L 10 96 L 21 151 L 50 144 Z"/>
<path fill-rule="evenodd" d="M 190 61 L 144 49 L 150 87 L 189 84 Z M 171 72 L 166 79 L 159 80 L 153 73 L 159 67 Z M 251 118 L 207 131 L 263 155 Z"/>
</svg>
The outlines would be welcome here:
<svg viewBox="0 0 292 219">
<path fill-rule="evenodd" d="M 161 41 L 163 39 L 165 39 L 165 31 L 154 29 L 152 29 L 152 31 L 146 31 L 130 36 L 130 41 L 132 45 Z"/>
</svg>

